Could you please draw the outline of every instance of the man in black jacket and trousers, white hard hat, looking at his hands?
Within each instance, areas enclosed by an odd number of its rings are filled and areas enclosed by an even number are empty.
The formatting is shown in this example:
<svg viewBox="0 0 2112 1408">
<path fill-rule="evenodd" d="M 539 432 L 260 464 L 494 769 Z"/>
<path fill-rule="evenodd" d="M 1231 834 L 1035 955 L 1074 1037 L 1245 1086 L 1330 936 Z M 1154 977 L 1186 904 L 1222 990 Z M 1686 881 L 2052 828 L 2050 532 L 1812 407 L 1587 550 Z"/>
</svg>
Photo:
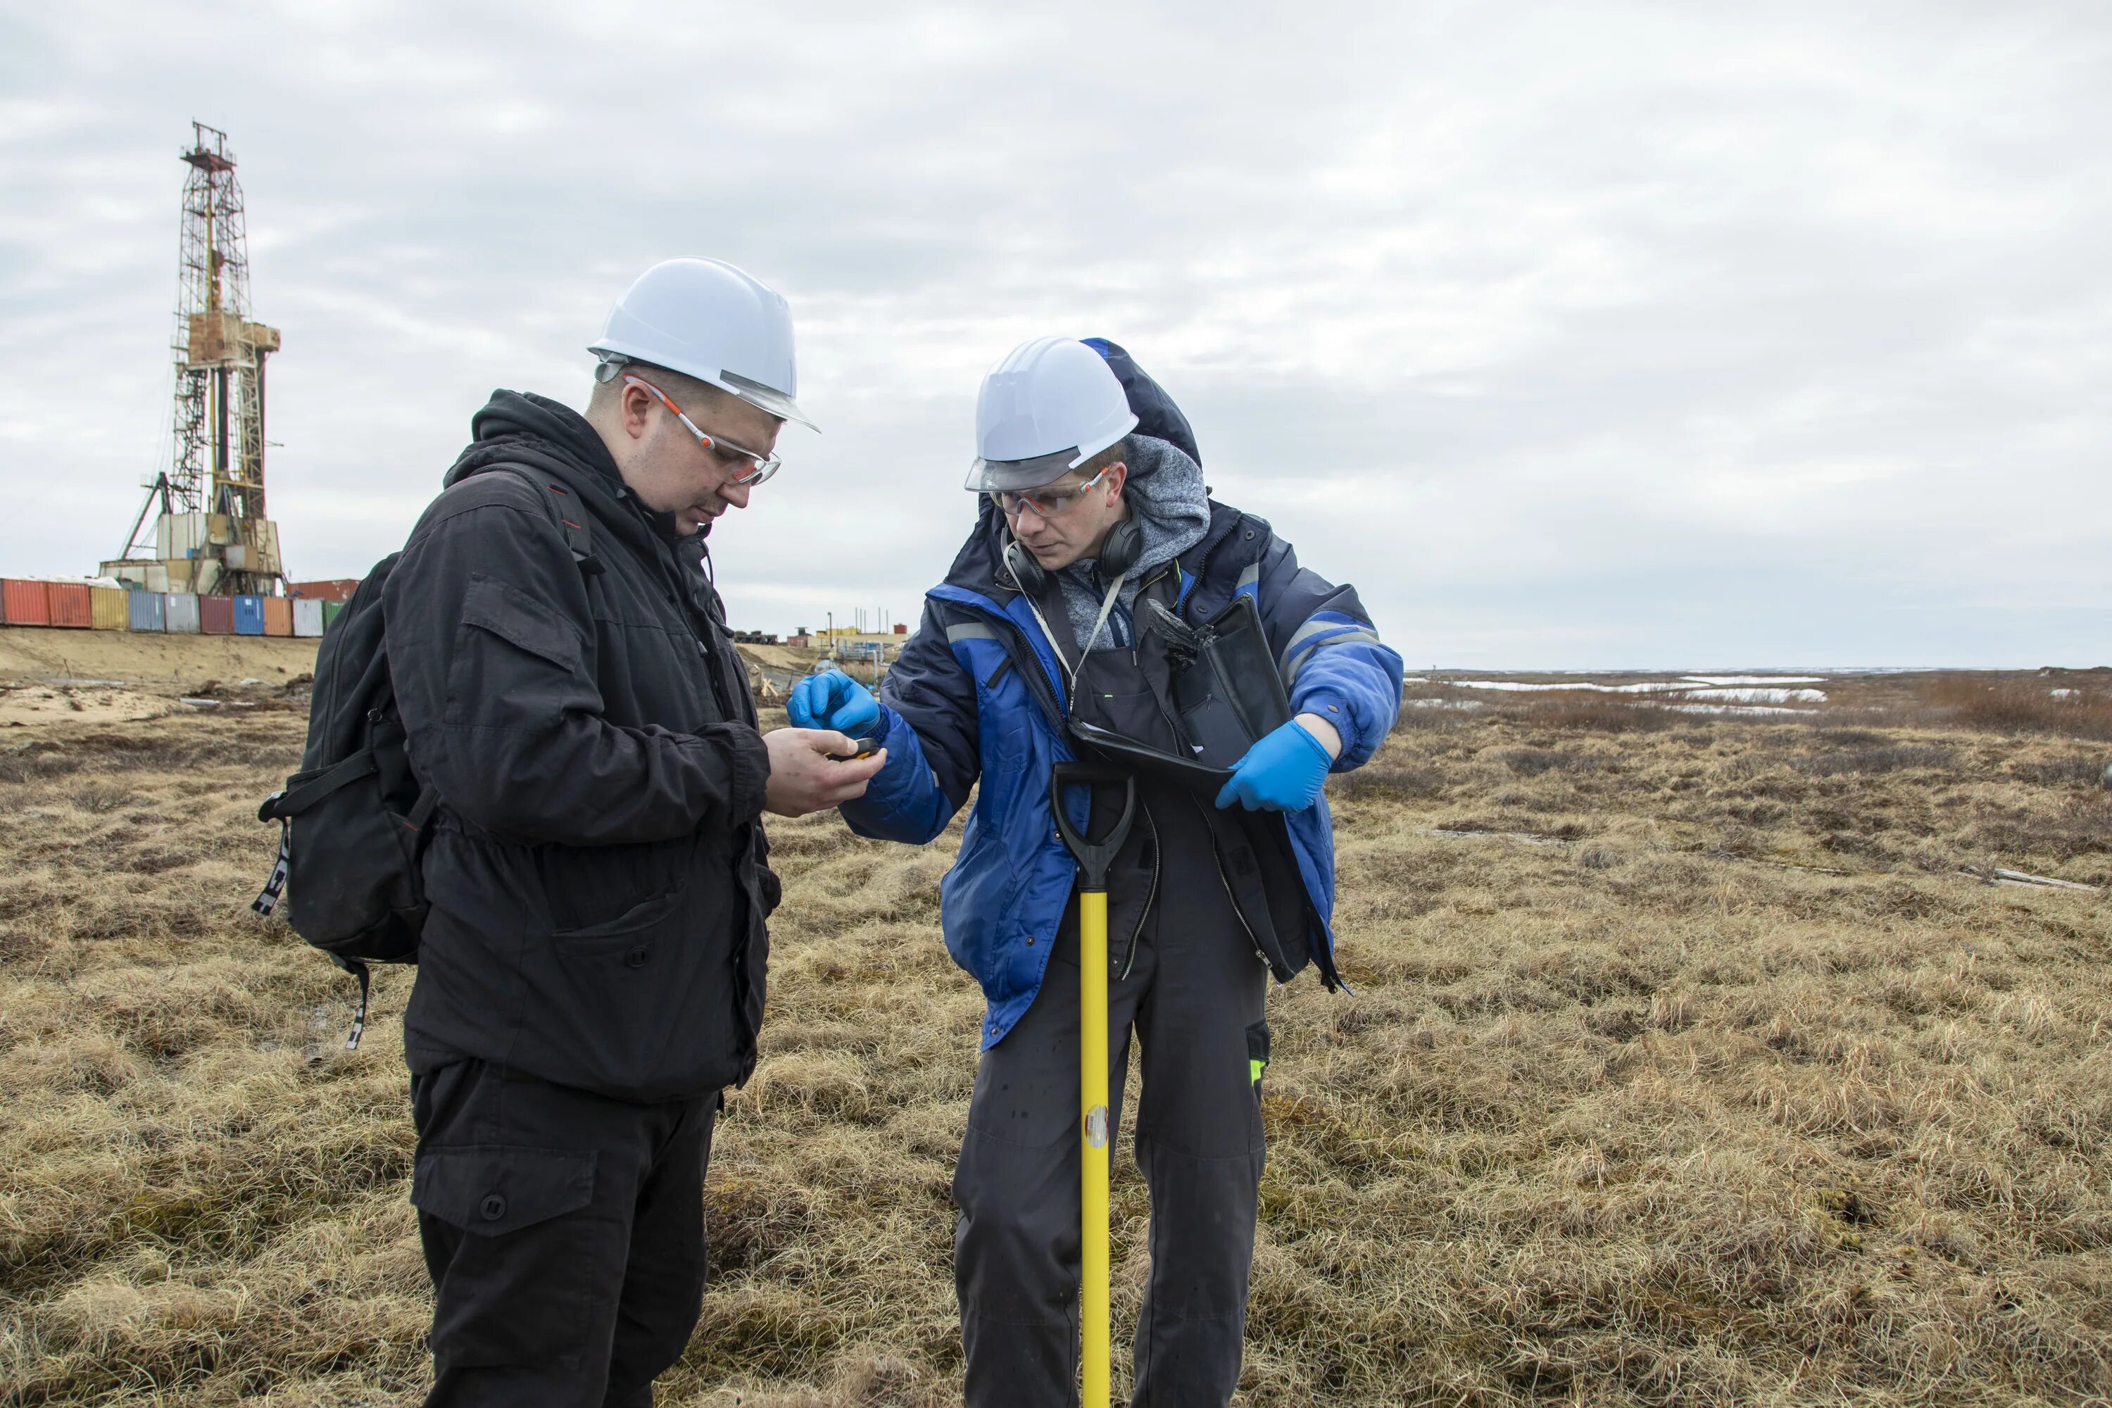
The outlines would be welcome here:
<svg viewBox="0 0 2112 1408">
<path fill-rule="evenodd" d="M 403 1017 L 433 1406 L 653 1402 L 701 1309 L 712 1119 L 756 1062 L 760 813 L 885 762 L 758 735 L 708 574 L 712 521 L 805 420 L 784 300 L 672 260 L 593 350 L 585 418 L 511 391 L 477 412 L 384 595 L 441 796 Z"/>
</svg>

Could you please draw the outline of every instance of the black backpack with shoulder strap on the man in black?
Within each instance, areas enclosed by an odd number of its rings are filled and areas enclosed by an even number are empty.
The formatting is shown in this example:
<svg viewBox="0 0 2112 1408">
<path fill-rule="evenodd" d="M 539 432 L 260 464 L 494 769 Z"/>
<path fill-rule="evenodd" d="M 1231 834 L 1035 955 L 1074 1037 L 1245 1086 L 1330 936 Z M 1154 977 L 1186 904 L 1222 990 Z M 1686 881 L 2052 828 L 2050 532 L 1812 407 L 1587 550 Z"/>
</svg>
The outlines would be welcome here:
<svg viewBox="0 0 2112 1408">
<path fill-rule="evenodd" d="M 532 477 L 520 464 L 496 469 Z M 545 505 L 579 570 L 602 572 L 585 521 L 568 517 L 570 490 L 532 481 L 547 490 Z M 439 806 L 439 794 L 412 773 L 389 680 L 382 591 L 399 557 L 374 564 L 323 635 L 300 773 L 258 806 L 258 821 L 279 823 L 279 861 L 249 908 L 268 918 L 283 899 L 294 933 L 359 979 L 346 1051 L 367 1026 L 367 965 L 418 963 L 427 914 L 420 861 Z"/>
</svg>

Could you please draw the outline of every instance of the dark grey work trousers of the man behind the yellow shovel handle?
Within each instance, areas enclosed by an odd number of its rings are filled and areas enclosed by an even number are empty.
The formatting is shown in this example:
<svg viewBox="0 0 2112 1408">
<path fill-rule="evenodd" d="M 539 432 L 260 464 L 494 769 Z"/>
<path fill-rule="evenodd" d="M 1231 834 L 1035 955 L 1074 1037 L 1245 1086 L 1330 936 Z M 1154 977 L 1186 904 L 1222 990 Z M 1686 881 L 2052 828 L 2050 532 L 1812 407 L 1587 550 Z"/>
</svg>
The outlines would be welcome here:
<svg viewBox="0 0 2112 1408">
<path fill-rule="evenodd" d="M 1077 1404 L 1075 912 L 1073 903 L 1033 1007 L 976 1070 L 953 1180 L 967 1408 Z M 1208 870 L 1162 876 L 1128 973 L 1126 937 L 1109 939 L 1109 1115 L 1119 1125 L 1134 1026 L 1136 1163 L 1151 1188 L 1132 1404 L 1223 1408 L 1240 1383 L 1255 1258 L 1269 971 Z"/>
</svg>

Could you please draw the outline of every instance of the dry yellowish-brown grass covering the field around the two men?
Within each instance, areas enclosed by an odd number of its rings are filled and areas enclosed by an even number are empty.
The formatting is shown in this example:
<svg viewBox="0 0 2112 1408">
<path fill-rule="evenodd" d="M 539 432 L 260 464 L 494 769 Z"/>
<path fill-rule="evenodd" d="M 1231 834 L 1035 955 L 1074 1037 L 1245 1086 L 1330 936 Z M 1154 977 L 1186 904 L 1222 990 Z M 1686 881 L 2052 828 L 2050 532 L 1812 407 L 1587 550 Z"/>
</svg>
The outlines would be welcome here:
<svg viewBox="0 0 2112 1408">
<path fill-rule="evenodd" d="M 2112 1397 L 2112 916 L 1960 874 L 2112 882 L 2108 749 L 1884 688 L 1852 726 L 1417 709 L 1337 783 L 1356 996 L 1271 996 L 1244 1404 Z M 0 745 L 6 1402 L 418 1400 L 408 975 L 344 1055 L 348 984 L 243 910 L 296 747 Z M 953 840 L 773 834 L 765 1060 L 663 1402 L 955 1404 Z M 1128 1321 L 1128 1159 L 1115 1224 Z"/>
</svg>

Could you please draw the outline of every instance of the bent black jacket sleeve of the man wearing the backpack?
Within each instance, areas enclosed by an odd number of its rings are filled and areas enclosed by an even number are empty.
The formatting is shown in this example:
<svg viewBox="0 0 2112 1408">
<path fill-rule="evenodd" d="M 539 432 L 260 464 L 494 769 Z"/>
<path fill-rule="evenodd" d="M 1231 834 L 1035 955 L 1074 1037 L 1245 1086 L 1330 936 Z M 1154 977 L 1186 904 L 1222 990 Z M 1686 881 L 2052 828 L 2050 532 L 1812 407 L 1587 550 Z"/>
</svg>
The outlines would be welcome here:
<svg viewBox="0 0 2112 1408">
<path fill-rule="evenodd" d="M 602 718 L 585 578 L 534 494 L 515 475 L 456 486 L 389 574 L 389 673 L 412 768 L 465 821 L 528 842 L 754 821 L 769 779 L 754 728 L 680 735 Z"/>
</svg>

